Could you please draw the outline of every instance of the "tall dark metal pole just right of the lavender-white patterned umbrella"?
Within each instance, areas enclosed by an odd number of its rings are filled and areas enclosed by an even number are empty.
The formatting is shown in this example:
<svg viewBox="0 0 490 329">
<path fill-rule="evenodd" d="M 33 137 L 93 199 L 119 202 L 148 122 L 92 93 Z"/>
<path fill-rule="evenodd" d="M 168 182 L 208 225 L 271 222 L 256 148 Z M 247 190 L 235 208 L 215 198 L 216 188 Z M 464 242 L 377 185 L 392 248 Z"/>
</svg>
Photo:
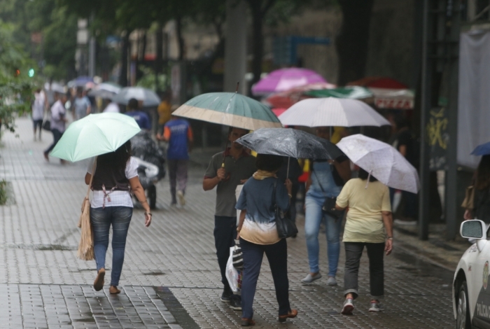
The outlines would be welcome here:
<svg viewBox="0 0 490 329">
<path fill-rule="evenodd" d="M 430 0 L 423 0 L 423 34 L 422 34 L 422 95 L 420 116 L 420 191 L 419 191 L 419 239 L 428 239 L 428 222 L 430 216 L 429 192 L 429 146 L 426 132 L 427 120 L 431 106 L 432 63 L 429 58 Z"/>
</svg>

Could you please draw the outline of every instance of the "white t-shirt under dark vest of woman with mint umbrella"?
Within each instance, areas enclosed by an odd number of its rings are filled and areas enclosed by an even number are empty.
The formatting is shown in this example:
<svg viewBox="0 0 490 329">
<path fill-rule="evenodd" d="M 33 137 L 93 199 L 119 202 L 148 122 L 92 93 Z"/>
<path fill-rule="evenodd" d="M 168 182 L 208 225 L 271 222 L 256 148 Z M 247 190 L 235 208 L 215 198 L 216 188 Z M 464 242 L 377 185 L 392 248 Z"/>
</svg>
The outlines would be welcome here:
<svg viewBox="0 0 490 329">
<path fill-rule="evenodd" d="M 87 173 L 92 174 L 92 167 L 94 166 L 94 158 L 91 158 Z M 95 169 L 97 172 L 97 167 Z M 138 176 L 138 162 L 133 157 L 127 162 L 125 174 L 127 179 L 132 179 Z M 109 193 L 109 190 L 106 190 Z M 109 201 L 110 199 L 110 201 Z M 102 208 L 104 205 L 104 191 L 92 191 L 92 201 L 90 202 L 92 208 Z M 129 191 L 114 190 L 109 193 L 109 197 L 106 197 L 105 207 L 133 207 L 133 200 L 131 200 L 131 194 Z"/>
</svg>

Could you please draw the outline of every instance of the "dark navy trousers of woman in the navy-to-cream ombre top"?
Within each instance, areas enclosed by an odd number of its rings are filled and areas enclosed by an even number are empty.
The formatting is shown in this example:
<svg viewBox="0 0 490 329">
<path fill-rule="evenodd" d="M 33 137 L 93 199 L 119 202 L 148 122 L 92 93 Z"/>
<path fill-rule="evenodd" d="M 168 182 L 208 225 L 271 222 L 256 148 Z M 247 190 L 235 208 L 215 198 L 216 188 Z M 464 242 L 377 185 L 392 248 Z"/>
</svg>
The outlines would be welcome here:
<svg viewBox="0 0 490 329">
<path fill-rule="evenodd" d="M 288 314 L 291 308 L 289 305 L 288 245 L 286 239 L 281 239 L 276 244 L 253 244 L 240 238 L 240 246 L 244 257 L 244 276 L 241 280 L 241 317 L 253 317 L 253 297 L 255 297 L 264 253 L 269 260 L 274 288 L 276 288 L 279 315 Z"/>
</svg>

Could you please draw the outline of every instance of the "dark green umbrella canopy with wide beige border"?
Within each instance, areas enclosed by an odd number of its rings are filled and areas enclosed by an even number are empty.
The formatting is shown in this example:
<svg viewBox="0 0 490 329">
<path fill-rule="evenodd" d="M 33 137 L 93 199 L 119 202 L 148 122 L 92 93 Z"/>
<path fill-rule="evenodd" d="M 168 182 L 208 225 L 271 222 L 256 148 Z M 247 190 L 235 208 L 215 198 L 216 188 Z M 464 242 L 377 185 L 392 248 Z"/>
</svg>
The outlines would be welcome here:
<svg viewBox="0 0 490 329">
<path fill-rule="evenodd" d="M 236 92 L 200 94 L 172 114 L 246 130 L 282 127 L 267 106 Z"/>
</svg>

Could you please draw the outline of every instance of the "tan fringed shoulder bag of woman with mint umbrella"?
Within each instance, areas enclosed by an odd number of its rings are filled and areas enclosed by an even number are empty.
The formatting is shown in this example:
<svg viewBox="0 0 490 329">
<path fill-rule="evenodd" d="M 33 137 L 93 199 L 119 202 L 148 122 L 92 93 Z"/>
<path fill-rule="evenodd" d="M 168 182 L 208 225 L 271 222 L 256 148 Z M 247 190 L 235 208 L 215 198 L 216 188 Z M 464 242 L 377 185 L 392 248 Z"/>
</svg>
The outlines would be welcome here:
<svg viewBox="0 0 490 329">
<path fill-rule="evenodd" d="M 81 260 L 93 260 L 94 259 L 94 232 L 92 231 L 92 225 L 90 224 L 90 188 L 92 187 L 92 179 L 94 179 L 95 165 L 97 158 L 94 160 L 92 167 L 92 176 L 90 176 L 90 183 L 87 188 L 87 195 L 83 199 L 82 214 L 78 221 L 78 228 L 82 228 L 82 234 L 80 236 L 80 243 L 78 244 L 78 252 L 76 256 Z"/>
</svg>

